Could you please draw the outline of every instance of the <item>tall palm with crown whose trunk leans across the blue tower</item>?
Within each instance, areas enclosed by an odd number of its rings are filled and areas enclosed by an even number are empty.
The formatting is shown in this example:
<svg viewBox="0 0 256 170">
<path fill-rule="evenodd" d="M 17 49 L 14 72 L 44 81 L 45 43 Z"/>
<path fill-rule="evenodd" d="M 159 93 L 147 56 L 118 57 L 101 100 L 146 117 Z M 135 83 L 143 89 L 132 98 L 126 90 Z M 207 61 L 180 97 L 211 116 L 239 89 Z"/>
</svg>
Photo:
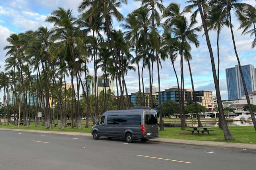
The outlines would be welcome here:
<svg viewBox="0 0 256 170">
<path fill-rule="evenodd" d="M 241 3 L 240 0 L 212 0 L 212 4 L 214 5 L 220 5 L 222 7 L 222 16 L 224 16 L 225 18 L 227 18 L 229 20 L 229 27 L 230 27 L 230 31 L 231 31 L 231 35 L 232 35 L 232 41 L 233 41 L 233 46 L 234 46 L 234 51 L 236 54 L 236 59 L 238 61 L 238 66 L 239 66 L 239 72 L 241 75 L 241 80 L 242 80 L 242 84 L 243 84 L 243 90 L 245 93 L 245 97 L 247 100 L 247 104 L 249 106 L 249 111 L 252 117 L 252 121 L 253 121 L 253 126 L 254 129 L 256 131 L 256 119 L 251 107 L 251 102 L 249 99 L 249 95 L 247 92 L 247 88 L 246 88 L 246 84 L 245 84 L 245 80 L 244 80 L 244 76 L 243 76 L 243 72 L 242 72 L 242 67 L 241 67 L 241 63 L 240 63 L 240 59 L 237 53 L 237 49 L 236 49 L 236 41 L 235 41 L 235 37 L 234 37 L 234 32 L 233 32 L 233 25 L 232 25 L 232 16 L 231 16 L 231 11 L 234 10 L 236 16 L 238 16 L 238 19 L 242 22 L 243 19 L 241 19 L 241 15 L 244 11 L 244 9 L 249 8 L 250 6 L 246 3 Z"/>
</svg>

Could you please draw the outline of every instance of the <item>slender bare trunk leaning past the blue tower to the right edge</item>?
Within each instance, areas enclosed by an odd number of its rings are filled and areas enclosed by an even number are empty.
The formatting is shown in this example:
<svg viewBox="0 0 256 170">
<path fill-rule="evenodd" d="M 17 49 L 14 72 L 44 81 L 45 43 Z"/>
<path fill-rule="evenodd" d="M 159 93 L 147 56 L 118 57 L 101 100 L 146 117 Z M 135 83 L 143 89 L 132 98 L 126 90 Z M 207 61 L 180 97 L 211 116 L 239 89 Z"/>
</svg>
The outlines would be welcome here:
<svg viewBox="0 0 256 170">
<path fill-rule="evenodd" d="M 253 113 L 253 110 L 252 110 L 252 107 L 251 107 L 251 102 L 250 102 L 250 99 L 249 99 L 247 88 L 246 88 L 246 85 L 245 85 L 245 80 L 244 80 L 244 76 L 243 76 L 243 72 L 242 72 L 242 67 L 241 67 L 240 59 L 239 59 L 239 56 L 238 56 L 238 53 L 237 53 L 237 50 L 236 50 L 236 42 L 235 42 L 235 38 L 234 38 L 232 22 L 231 22 L 231 13 L 230 12 L 229 12 L 229 22 L 230 22 L 230 31 L 231 31 L 231 35 L 232 35 L 232 41 L 233 41 L 233 45 L 234 45 L 234 50 L 235 50 L 235 53 L 236 53 L 236 59 L 237 59 L 237 62 L 238 62 L 239 72 L 240 72 L 242 83 L 243 83 L 243 90 L 244 90 L 246 101 L 247 101 L 247 104 L 248 104 L 248 107 L 249 107 L 249 111 L 250 111 L 250 114 L 251 114 L 251 119 L 252 119 L 252 122 L 253 122 L 253 127 L 254 127 L 254 129 L 256 131 L 256 120 L 255 120 L 255 116 L 254 116 L 254 113 Z"/>
</svg>

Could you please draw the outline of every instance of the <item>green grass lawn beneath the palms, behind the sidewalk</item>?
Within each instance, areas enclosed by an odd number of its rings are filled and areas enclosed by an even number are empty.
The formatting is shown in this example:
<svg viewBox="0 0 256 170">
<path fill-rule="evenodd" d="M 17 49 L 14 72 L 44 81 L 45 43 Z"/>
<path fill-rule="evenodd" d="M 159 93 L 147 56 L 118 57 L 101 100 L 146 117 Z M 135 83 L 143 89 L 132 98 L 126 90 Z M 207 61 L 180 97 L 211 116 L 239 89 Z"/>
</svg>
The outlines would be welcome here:
<svg viewBox="0 0 256 170">
<path fill-rule="evenodd" d="M 0 128 L 10 128 L 10 129 L 30 129 L 30 130 L 46 130 L 46 131 L 67 131 L 67 132 L 87 132 L 90 133 L 92 126 L 89 128 L 76 129 L 68 126 L 64 130 L 59 129 L 59 127 L 53 127 L 53 129 L 46 129 L 44 126 L 35 127 L 34 123 L 31 123 L 30 128 L 26 126 L 18 126 L 10 124 L 9 126 L 0 125 Z M 190 128 L 187 128 L 190 129 Z M 232 135 L 236 140 L 234 141 L 226 141 L 224 140 L 223 131 L 218 127 L 213 127 L 214 131 L 210 131 L 210 134 L 207 133 L 204 135 L 194 135 L 191 134 L 190 131 L 181 131 L 180 128 L 164 128 L 164 131 L 159 132 L 159 137 L 162 138 L 174 138 L 174 139 L 190 139 L 197 141 L 215 141 L 215 142 L 233 142 L 233 143 L 250 143 L 256 144 L 256 132 L 253 126 L 230 126 L 229 129 Z"/>
</svg>

